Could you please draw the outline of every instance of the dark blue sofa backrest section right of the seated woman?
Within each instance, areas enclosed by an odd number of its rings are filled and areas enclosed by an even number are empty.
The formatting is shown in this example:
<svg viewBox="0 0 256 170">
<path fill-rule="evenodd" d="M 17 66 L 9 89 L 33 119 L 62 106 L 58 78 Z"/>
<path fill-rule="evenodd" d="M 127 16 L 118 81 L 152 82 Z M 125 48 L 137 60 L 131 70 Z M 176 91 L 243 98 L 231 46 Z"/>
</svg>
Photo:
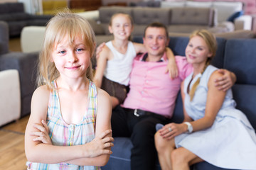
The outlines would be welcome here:
<svg viewBox="0 0 256 170">
<path fill-rule="evenodd" d="M 224 68 L 235 73 L 233 96 L 237 108 L 247 115 L 256 129 L 256 39 L 228 40 Z"/>
</svg>

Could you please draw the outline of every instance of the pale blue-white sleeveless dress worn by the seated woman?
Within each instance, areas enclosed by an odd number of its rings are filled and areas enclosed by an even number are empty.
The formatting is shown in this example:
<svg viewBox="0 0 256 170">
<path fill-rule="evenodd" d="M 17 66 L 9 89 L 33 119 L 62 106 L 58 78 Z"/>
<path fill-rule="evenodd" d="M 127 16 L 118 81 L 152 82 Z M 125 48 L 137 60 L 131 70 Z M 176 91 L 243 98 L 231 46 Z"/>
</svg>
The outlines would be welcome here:
<svg viewBox="0 0 256 170">
<path fill-rule="evenodd" d="M 185 108 L 193 120 L 203 118 L 206 109 L 208 80 L 217 68 L 209 65 L 196 75 L 191 86 L 201 77 L 193 101 L 186 92 L 193 73 L 184 81 Z M 225 169 L 256 169 L 256 135 L 244 113 L 235 109 L 231 89 L 212 127 L 175 137 L 176 147 L 184 147 L 206 162 Z"/>
</svg>

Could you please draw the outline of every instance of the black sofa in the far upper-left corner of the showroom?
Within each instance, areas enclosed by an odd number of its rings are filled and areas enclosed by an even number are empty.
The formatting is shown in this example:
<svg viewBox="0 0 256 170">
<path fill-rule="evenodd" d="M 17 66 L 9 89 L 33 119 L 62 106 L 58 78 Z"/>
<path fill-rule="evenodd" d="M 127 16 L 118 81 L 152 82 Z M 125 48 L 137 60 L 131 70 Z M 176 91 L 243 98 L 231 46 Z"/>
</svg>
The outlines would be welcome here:
<svg viewBox="0 0 256 170">
<path fill-rule="evenodd" d="M 0 4 L 0 21 L 8 23 L 10 37 L 19 36 L 25 26 L 46 26 L 51 17 L 26 13 L 21 2 Z"/>
</svg>

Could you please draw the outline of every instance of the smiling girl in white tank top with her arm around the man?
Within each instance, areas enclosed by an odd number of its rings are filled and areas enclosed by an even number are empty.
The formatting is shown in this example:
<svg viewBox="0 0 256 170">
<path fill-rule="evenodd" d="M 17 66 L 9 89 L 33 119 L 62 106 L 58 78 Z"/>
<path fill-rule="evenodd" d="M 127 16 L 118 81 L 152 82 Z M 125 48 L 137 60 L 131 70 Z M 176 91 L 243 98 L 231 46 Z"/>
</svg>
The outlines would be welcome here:
<svg viewBox="0 0 256 170">
<path fill-rule="evenodd" d="M 114 35 L 114 40 L 107 42 L 100 52 L 93 80 L 97 87 L 101 87 L 112 96 L 112 107 L 114 108 L 123 103 L 127 96 L 129 74 L 134 57 L 140 52 L 146 52 L 146 49 L 143 44 L 129 41 L 133 30 L 133 21 L 128 14 L 114 14 L 110 19 L 109 30 Z M 154 45 L 154 47 L 158 46 Z M 171 76 L 176 77 L 174 54 L 169 48 L 166 48 L 166 52 L 169 57 Z"/>
</svg>

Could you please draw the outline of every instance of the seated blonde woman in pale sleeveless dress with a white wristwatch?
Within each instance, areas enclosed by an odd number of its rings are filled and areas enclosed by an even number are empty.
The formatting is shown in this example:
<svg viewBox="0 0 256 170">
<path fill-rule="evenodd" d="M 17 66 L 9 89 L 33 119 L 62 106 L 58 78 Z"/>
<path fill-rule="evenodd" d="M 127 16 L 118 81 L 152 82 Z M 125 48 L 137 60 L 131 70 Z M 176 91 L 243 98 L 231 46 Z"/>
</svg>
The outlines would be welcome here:
<svg viewBox="0 0 256 170">
<path fill-rule="evenodd" d="M 156 132 L 161 169 L 189 169 L 206 161 L 224 169 L 256 169 L 256 135 L 244 113 L 235 109 L 231 89 L 220 91 L 223 75 L 210 65 L 217 42 L 207 30 L 192 33 L 186 58 L 193 66 L 182 86 L 184 122 Z"/>
</svg>

